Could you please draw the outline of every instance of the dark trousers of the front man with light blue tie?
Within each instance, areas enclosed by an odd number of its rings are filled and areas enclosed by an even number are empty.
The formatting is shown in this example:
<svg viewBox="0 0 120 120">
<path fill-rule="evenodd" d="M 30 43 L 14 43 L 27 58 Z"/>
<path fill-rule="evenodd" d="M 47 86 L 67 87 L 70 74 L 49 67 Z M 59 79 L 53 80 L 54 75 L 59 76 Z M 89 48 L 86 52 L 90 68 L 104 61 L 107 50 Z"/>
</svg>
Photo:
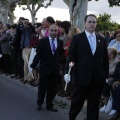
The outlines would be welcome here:
<svg viewBox="0 0 120 120">
<path fill-rule="evenodd" d="M 94 83 L 85 86 L 75 86 L 69 111 L 69 120 L 75 120 L 87 99 L 87 120 L 98 120 L 99 99 L 103 86 Z"/>
</svg>

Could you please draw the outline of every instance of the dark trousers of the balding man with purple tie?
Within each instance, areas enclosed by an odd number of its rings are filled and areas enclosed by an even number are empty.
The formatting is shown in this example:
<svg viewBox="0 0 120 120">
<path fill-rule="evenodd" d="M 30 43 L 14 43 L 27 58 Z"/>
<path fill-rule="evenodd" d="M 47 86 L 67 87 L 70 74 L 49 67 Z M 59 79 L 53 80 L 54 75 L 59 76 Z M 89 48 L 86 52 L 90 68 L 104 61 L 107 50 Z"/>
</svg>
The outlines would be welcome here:
<svg viewBox="0 0 120 120">
<path fill-rule="evenodd" d="M 40 75 L 37 104 L 42 105 L 46 95 L 46 108 L 53 107 L 53 100 L 57 93 L 59 75 Z"/>
</svg>

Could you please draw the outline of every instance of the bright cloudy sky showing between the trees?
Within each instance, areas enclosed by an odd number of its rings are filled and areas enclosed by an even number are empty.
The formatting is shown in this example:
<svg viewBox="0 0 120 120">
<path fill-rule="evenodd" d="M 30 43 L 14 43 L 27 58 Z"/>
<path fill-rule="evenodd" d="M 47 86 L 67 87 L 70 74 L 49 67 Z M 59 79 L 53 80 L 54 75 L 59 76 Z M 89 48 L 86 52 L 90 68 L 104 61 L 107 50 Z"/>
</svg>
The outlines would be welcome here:
<svg viewBox="0 0 120 120">
<path fill-rule="evenodd" d="M 95 0 L 90 1 L 88 3 L 88 14 L 93 13 L 98 16 L 99 14 L 107 13 L 111 15 L 112 21 L 120 24 L 120 14 L 118 12 L 120 11 L 120 7 L 111 8 L 107 1 L 108 0 L 99 0 L 98 2 Z M 17 7 L 14 14 L 16 16 L 16 21 L 19 17 L 25 17 L 31 21 L 31 15 L 28 10 L 23 11 L 21 8 Z M 41 22 L 42 19 L 47 16 L 52 16 L 55 20 L 70 20 L 69 9 L 63 0 L 53 0 L 51 6 L 48 8 L 40 8 L 36 18 L 38 18 L 38 22 Z"/>
</svg>

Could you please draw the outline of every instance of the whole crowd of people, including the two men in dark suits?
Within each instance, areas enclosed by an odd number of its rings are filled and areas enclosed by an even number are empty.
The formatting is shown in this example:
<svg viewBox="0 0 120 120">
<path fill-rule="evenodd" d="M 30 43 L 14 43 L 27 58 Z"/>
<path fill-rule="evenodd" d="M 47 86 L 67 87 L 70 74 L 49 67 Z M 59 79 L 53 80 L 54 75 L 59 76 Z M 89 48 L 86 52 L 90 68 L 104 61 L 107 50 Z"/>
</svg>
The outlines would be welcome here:
<svg viewBox="0 0 120 120">
<path fill-rule="evenodd" d="M 87 119 L 98 120 L 101 97 L 104 105 L 100 112 L 112 115 L 110 120 L 119 120 L 120 30 L 96 34 L 96 26 L 93 14 L 85 17 L 84 32 L 51 16 L 34 24 L 23 17 L 12 25 L 0 22 L 0 74 L 39 86 L 38 110 L 47 94 L 46 109 L 57 112 L 52 103 L 57 93 L 71 100 L 69 120 L 75 120 L 86 99 Z M 74 66 L 65 78 L 70 62 Z"/>
</svg>

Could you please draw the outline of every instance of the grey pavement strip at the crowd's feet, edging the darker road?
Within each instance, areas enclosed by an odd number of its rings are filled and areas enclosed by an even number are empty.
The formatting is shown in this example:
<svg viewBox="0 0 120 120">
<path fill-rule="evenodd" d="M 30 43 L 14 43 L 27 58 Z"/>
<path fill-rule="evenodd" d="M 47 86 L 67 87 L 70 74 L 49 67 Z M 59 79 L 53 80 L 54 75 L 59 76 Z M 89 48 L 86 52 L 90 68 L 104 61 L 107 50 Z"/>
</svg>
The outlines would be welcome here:
<svg viewBox="0 0 120 120">
<path fill-rule="evenodd" d="M 11 78 L 10 76 L 5 76 L 4 74 L 0 74 L 0 78 L 6 79 L 6 80 L 13 82 L 15 84 L 24 86 L 27 89 L 33 90 L 34 92 L 38 91 L 38 87 L 33 87 L 28 83 L 23 84 L 19 79 L 14 79 L 14 78 Z M 61 108 L 61 103 L 65 104 L 65 108 Z M 70 108 L 70 100 L 67 100 L 65 97 L 56 96 L 55 97 L 55 104 L 56 104 L 56 107 L 59 107 L 60 112 L 62 112 L 63 115 L 68 116 L 68 112 L 69 112 L 69 108 Z M 84 117 L 86 117 L 86 102 L 83 106 L 82 111 L 78 115 L 77 120 L 83 120 Z M 110 118 L 110 116 L 108 116 L 107 114 L 100 113 L 99 120 L 108 120 L 109 118 Z"/>
</svg>

